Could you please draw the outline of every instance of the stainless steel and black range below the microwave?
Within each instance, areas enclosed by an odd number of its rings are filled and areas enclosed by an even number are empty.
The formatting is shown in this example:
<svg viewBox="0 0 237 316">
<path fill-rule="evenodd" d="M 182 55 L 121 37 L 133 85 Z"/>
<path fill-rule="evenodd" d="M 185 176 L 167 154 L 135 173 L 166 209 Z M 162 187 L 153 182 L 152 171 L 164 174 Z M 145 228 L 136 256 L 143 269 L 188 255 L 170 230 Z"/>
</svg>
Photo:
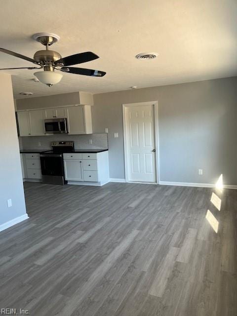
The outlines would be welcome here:
<svg viewBox="0 0 237 316">
<path fill-rule="evenodd" d="M 64 175 L 63 153 L 74 152 L 74 142 L 52 142 L 52 150 L 40 154 L 42 182 L 67 184 Z"/>
</svg>

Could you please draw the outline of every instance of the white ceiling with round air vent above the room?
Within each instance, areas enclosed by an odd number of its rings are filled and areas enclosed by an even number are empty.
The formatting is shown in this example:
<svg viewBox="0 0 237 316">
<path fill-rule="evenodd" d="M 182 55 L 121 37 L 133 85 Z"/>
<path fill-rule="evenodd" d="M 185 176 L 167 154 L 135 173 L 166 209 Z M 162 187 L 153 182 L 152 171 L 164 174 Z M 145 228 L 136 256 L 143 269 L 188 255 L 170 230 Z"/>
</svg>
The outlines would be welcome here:
<svg viewBox="0 0 237 316">
<path fill-rule="evenodd" d="M 64 73 L 52 87 L 34 70 L 12 75 L 13 92 L 34 96 L 109 92 L 237 75 L 237 0 L 7 0 L 1 1 L 0 47 L 33 57 L 44 47 L 32 39 L 51 32 L 51 49 L 67 56 L 93 51 L 100 59 L 78 67 L 106 71 L 103 78 Z M 137 60 L 141 52 L 154 60 Z M 0 52 L 0 68 L 34 64 Z M 25 96 L 23 96 L 25 97 Z"/>
</svg>

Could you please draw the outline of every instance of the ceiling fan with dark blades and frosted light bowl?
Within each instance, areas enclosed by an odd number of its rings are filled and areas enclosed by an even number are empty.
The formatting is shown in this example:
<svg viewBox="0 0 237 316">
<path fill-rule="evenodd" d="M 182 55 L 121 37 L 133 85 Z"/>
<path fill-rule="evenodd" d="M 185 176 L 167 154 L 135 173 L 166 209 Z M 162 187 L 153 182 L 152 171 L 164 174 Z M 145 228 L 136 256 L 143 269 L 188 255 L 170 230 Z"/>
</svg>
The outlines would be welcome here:
<svg viewBox="0 0 237 316">
<path fill-rule="evenodd" d="M 92 77 L 103 77 L 105 72 L 100 70 L 68 67 L 72 65 L 77 65 L 81 63 L 86 63 L 88 61 L 99 58 L 96 54 L 91 51 L 84 53 L 79 53 L 67 57 L 63 57 L 54 50 L 49 50 L 48 47 L 53 43 L 57 42 L 60 37 L 52 33 L 37 33 L 33 36 L 34 40 L 39 41 L 46 47 L 46 50 L 38 50 L 33 58 L 15 53 L 14 51 L 0 48 L 0 51 L 27 61 L 30 61 L 40 67 L 19 67 L 19 68 L 1 68 L 0 70 L 11 70 L 11 69 L 43 69 L 43 71 L 36 72 L 34 75 L 40 80 L 40 82 L 45 83 L 49 87 L 53 84 L 58 83 L 63 75 L 55 72 L 55 70 L 60 70 L 62 72 L 85 75 Z"/>
</svg>

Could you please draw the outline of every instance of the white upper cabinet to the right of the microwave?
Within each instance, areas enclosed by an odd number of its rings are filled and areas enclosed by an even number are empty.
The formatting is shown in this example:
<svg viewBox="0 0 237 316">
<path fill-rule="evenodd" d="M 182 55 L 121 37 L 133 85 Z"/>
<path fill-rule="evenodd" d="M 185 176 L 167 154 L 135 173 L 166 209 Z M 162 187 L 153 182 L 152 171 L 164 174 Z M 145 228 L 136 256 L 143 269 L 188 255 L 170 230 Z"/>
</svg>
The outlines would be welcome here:
<svg viewBox="0 0 237 316">
<path fill-rule="evenodd" d="M 89 105 L 67 108 L 69 134 L 91 134 L 91 110 Z"/>
</svg>

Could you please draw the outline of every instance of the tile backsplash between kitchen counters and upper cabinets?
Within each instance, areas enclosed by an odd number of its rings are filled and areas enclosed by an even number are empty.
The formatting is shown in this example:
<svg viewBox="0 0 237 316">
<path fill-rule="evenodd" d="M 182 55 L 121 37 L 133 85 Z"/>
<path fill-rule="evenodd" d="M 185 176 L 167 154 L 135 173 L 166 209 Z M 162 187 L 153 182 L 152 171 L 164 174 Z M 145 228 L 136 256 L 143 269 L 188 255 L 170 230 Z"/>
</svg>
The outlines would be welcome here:
<svg viewBox="0 0 237 316">
<path fill-rule="evenodd" d="M 89 141 L 92 140 L 92 144 Z M 100 149 L 108 148 L 108 137 L 106 133 L 94 133 L 86 135 L 63 135 L 54 134 L 50 136 L 26 136 L 19 137 L 20 149 L 51 149 L 53 141 L 74 141 L 75 149 Z"/>
</svg>

